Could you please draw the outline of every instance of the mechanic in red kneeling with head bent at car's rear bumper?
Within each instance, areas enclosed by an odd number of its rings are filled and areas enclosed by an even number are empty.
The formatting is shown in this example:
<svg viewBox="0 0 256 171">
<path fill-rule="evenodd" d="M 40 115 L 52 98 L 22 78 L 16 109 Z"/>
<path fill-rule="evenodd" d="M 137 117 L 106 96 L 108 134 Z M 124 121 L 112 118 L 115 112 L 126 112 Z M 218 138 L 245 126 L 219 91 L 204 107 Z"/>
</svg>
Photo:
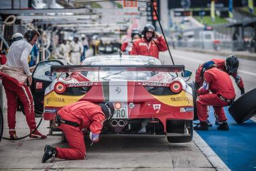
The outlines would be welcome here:
<svg viewBox="0 0 256 171">
<path fill-rule="evenodd" d="M 76 102 L 62 108 L 56 115 L 56 124 L 68 141 L 70 148 L 54 148 L 46 145 L 42 162 L 50 158 L 62 158 L 70 160 L 82 160 L 86 156 L 84 134 L 82 128 L 90 129 L 90 140 L 99 141 L 99 134 L 105 120 L 110 120 L 115 112 L 111 102 L 99 105 L 92 102 Z"/>
</svg>

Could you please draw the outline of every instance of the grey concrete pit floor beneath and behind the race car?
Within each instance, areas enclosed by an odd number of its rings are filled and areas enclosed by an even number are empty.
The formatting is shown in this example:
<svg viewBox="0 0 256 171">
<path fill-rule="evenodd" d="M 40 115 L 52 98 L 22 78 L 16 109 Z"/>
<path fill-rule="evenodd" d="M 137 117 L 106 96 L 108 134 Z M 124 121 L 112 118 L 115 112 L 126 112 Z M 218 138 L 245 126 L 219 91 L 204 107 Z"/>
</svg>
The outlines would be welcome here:
<svg viewBox="0 0 256 171">
<path fill-rule="evenodd" d="M 7 136 L 5 113 L 4 134 Z M 25 117 L 17 112 L 17 135 L 29 132 Z M 39 118 L 37 118 L 37 121 Z M 40 131 L 48 132 L 48 122 L 43 121 Z M 90 146 L 86 138 L 86 160 L 60 160 L 42 164 L 44 146 L 68 147 L 60 137 L 48 136 L 44 140 L 25 138 L 18 141 L 2 140 L 0 143 L 1 170 L 215 170 L 194 142 L 170 144 L 166 138 L 101 138 Z"/>
</svg>

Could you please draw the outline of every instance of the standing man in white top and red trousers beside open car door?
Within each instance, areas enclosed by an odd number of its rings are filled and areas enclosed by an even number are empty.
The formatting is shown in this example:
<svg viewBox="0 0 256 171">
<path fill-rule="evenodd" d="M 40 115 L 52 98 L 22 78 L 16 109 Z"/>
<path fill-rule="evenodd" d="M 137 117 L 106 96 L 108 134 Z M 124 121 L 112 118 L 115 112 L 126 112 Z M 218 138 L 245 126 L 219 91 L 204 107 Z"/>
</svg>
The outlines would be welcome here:
<svg viewBox="0 0 256 171">
<path fill-rule="evenodd" d="M 18 34 L 19 35 L 19 34 Z M 32 73 L 29 71 L 28 59 L 33 45 L 36 43 L 40 33 L 35 29 L 25 32 L 24 38 L 13 37 L 13 43 L 9 48 L 6 65 L 0 67 L 0 77 L 3 79 L 3 87 L 7 98 L 7 122 L 9 136 L 17 139 L 15 131 L 15 114 L 17 109 L 17 98 L 23 104 L 25 118 L 29 126 L 30 138 L 47 138 L 36 129 L 34 100 L 29 85 L 32 83 Z M 16 37 L 17 38 L 17 37 Z"/>
</svg>

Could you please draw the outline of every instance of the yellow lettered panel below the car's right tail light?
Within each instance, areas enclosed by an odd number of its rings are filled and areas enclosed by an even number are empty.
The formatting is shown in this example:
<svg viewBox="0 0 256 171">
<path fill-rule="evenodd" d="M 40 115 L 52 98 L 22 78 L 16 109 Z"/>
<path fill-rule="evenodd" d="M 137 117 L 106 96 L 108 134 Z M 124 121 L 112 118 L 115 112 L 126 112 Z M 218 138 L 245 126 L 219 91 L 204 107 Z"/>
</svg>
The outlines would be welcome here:
<svg viewBox="0 0 256 171">
<path fill-rule="evenodd" d="M 153 97 L 168 106 L 193 106 L 193 96 L 184 90 L 180 94 Z"/>
</svg>

